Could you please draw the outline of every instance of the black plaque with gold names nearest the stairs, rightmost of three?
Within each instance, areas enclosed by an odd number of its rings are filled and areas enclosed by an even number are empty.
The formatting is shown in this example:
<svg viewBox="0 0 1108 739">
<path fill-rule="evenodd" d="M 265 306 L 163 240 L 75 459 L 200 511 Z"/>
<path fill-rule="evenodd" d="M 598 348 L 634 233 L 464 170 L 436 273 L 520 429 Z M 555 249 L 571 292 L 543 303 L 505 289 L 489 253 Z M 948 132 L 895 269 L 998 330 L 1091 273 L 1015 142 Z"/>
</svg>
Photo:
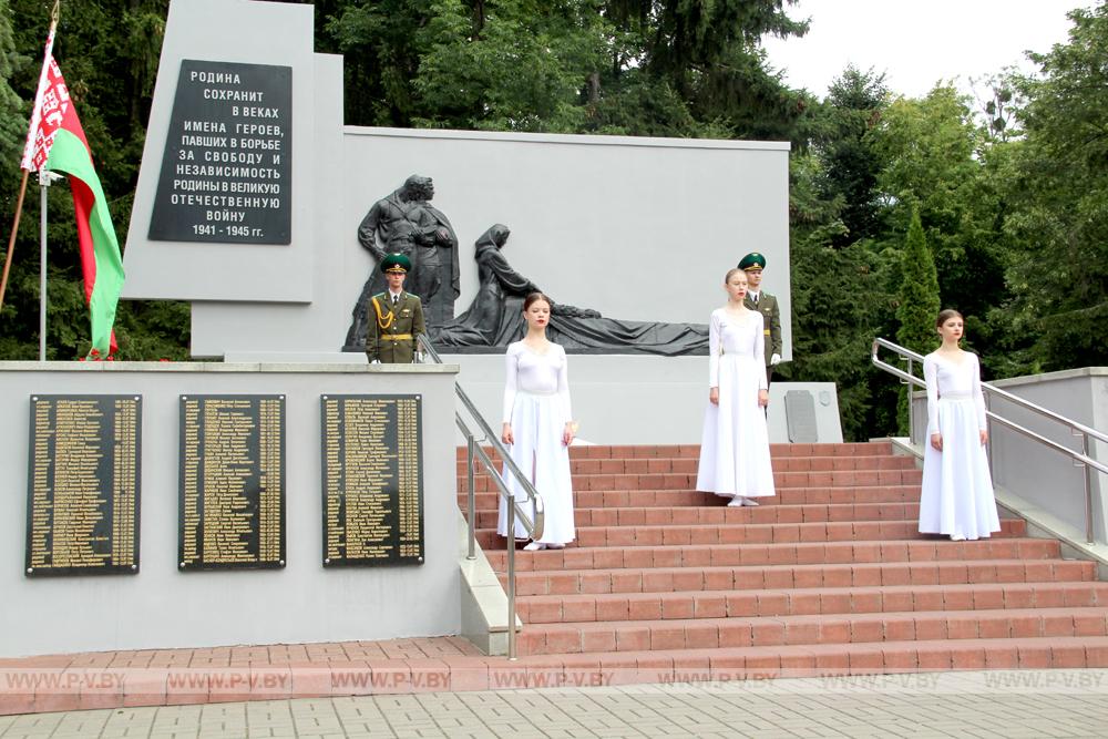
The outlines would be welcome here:
<svg viewBox="0 0 1108 739">
<path fill-rule="evenodd" d="M 420 396 L 322 396 L 324 566 L 423 563 Z"/>
</svg>

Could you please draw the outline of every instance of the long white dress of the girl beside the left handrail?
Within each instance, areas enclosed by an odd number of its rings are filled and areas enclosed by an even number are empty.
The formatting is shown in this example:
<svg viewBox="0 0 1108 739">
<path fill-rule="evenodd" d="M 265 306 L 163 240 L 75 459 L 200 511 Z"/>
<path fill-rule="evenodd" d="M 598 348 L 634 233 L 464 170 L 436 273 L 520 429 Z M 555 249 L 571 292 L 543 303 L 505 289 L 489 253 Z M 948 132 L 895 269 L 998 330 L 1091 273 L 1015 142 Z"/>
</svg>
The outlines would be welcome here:
<svg viewBox="0 0 1108 739">
<path fill-rule="evenodd" d="M 551 343 L 538 353 L 523 341 L 507 347 L 504 383 L 504 422 L 512 424 L 515 443 L 509 448 L 512 461 L 530 475 L 543 499 L 545 526 L 535 541 L 566 544 L 576 537 L 573 525 L 573 483 L 570 478 L 570 450 L 562 443 L 565 424 L 573 419 L 570 406 L 570 374 L 565 350 Z M 525 499 L 515 478 L 504 473 L 509 490 Z M 526 510 L 526 505 L 523 506 Z M 529 512 L 534 516 L 534 509 Z M 507 535 L 507 502 L 500 499 L 496 531 Z M 515 523 L 516 538 L 527 536 Z"/>
</svg>

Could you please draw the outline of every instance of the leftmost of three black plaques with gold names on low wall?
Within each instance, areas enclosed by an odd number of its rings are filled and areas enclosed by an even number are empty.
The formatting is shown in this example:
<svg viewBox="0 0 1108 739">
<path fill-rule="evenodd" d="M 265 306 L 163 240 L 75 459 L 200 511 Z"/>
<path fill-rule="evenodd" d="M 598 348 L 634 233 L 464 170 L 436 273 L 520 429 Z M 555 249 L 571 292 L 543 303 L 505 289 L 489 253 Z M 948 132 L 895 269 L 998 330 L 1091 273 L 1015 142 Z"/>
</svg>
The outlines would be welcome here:
<svg viewBox="0 0 1108 739">
<path fill-rule="evenodd" d="M 138 572 L 141 396 L 31 396 L 28 577 Z"/>
</svg>

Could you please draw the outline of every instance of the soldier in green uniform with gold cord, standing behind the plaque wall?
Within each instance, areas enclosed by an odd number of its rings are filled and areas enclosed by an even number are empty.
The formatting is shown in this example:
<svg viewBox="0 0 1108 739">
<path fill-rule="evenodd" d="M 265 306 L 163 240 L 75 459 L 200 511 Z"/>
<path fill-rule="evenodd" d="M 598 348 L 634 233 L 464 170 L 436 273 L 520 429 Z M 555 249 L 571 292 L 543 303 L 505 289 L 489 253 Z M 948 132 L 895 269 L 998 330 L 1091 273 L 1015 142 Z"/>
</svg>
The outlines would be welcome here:
<svg viewBox="0 0 1108 739">
<path fill-rule="evenodd" d="M 366 315 L 366 356 L 370 362 L 407 365 L 416 361 L 416 337 L 427 333 L 423 305 L 411 292 L 404 292 L 404 277 L 412 263 L 403 254 L 389 254 L 381 259 L 381 271 L 389 289 L 369 299 Z"/>
</svg>

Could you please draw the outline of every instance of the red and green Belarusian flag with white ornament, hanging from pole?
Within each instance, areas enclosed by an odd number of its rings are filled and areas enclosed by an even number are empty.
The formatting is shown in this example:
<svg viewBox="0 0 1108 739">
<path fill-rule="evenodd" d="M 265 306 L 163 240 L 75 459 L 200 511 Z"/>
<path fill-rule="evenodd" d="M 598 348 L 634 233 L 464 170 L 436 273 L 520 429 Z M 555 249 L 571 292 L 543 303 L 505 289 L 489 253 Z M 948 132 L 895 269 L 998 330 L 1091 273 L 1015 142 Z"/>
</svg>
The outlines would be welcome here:
<svg viewBox="0 0 1108 739">
<path fill-rule="evenodd" d="M 76 235 L 84 273 L 84 298 L 92 324 L 92 352 L 103 359 L 115 351 L 115 307 L 123 289 L 123 258 L 112 226 L 104 189 L 92 164 L 92 153 L 76 116 L 69 89 L 53 57 L 54 29 L 34 97 L 31 127 L 23 148 L 22 168 L 47 168 L 69 175 L 76 212 Z"/>
</svg>

